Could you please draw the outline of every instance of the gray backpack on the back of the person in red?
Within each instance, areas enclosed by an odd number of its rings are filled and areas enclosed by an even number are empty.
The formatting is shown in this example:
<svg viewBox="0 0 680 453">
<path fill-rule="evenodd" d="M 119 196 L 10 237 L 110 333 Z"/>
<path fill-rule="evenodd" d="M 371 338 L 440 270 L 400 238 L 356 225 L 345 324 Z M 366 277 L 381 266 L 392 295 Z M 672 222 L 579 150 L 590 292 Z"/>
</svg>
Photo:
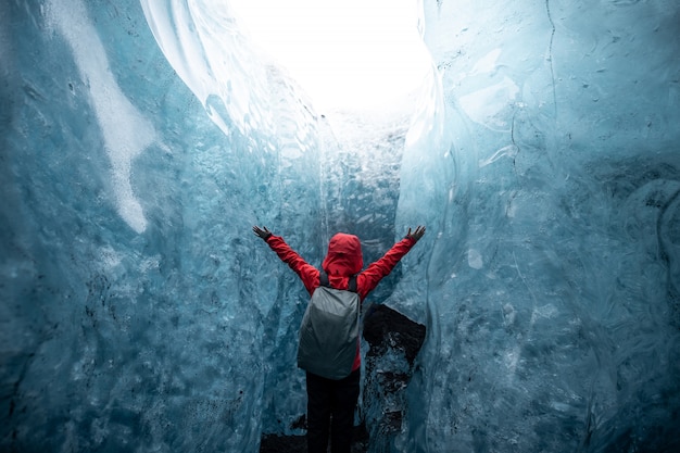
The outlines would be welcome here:
<svg viewBox="0 0 680 453">
<path fill-rule="evenodd" d="M 331 288 L 328 275 L 319 275 L 300 326 L 298 366 L 328 379 L 342 379 L 352 373 L 358 342 L 360 299 L 356 276 L 349 290 Z"/>
</svg>

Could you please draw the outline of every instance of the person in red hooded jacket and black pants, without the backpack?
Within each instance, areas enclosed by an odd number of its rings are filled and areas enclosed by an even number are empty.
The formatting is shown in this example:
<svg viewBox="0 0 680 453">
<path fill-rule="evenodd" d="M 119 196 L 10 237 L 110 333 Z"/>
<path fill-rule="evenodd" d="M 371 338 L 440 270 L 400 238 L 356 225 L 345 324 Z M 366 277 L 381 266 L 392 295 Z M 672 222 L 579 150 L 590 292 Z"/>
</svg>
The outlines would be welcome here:
<svg viewBox="0 0 680 453">
<path fill-rule="evenodd" d="M 310 294 L 320 286 L 320 272 L 310 265 L 298 252 L 290 248 L 280 236 L 275 236 L 267 227 L 253 226 L 253 232 L 262 238 L 282 262 L 298 274 Z M 374 290 L 378 282 L 389 275 L 396 263 L 408 253 L 425 235 L 425 227 L 414 231 L 408 228 L 406 236 L 396 242 L 378 261 L 365 270 L 362 248 L 354 235 L 338 232 L 328 243 L 328 253 L 322 268 L 328 275 L 331 288 L 347 290 L 350 277 L 356 276 L 356 292 L 360 301 Z M 356 356 L 352 372 L 340 380 L 327 379 L 306 372 L 307 391 L 307 451 L 326 453 L 328 440 L 332 453 L 350 453 L 354 408 L 360 394 L 361 351 L 356 344 Z M 330 436 L 329 436 L 330 430 Z"/>
</svg>

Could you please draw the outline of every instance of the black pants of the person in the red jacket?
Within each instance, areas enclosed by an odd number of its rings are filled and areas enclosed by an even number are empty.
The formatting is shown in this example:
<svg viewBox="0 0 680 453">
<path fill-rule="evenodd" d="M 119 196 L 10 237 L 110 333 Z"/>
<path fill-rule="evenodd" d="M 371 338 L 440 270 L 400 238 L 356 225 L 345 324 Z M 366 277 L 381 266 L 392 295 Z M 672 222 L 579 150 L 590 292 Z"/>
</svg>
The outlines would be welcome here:
<svg viewBox="0 0 680 453">
<path fill-rule="evenodd" d="M 361 370 L 340 380 L 307 373 L 307 452 L 350 453 Z M 331 423 L 332 419 L 332 423 Z"/>
</svg>

